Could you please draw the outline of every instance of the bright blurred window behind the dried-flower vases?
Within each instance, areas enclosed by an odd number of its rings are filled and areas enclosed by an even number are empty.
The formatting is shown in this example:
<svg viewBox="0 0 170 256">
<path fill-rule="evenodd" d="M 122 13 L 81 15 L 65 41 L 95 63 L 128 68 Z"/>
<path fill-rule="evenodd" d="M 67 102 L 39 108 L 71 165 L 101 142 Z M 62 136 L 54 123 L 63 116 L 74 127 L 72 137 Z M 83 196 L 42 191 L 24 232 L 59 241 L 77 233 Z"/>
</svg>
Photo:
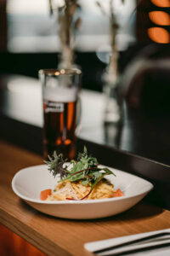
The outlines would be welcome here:
<svg viewBox="0 0 170 256">
<path fill-rule="evenodd" d="M 107 48 L 109 38 L 109 2 L 100 1 L 106 15 L 102 14 L 95 0 L 80 0 L 82 26 L 77 32 L 76 48 L 95 51 Z M 120 29 L 118 45 L 125 48 L 134 41 L 132 15 L 135 0 L 113 1 Z M 57 17 L 49 15 L 48 0 L 7 0 L 8 51 L 9 52 L 57 52 L 59 36 Z"/>
</svg>

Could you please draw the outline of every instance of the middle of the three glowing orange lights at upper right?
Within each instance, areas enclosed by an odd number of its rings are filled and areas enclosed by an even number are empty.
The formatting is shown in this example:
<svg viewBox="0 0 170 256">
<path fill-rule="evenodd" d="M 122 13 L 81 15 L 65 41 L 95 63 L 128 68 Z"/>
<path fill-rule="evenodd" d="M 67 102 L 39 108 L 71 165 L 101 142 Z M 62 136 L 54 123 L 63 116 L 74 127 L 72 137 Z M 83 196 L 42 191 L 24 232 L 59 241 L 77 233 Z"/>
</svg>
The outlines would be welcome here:
<svg viewBox="0 0 170 256">
<path fill-rule="evenodd" d="M 170 16 L 166 12 L 152 11 L 149 13 L 150 20 L 156 25 L 169 26 Z"/>
</svg>

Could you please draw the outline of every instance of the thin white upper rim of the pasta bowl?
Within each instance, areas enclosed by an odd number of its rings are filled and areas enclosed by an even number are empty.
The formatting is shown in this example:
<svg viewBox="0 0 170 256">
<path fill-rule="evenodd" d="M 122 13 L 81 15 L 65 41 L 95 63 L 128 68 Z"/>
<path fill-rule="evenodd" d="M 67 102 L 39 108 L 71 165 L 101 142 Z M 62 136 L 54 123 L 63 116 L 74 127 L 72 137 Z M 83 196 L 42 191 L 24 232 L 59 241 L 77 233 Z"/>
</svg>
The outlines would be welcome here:
<svg viewBox="0 0 170 256">
<path fill-rule="evenodd" d="M 11 185 L 12 185 L 12 189 L 14 191 L 14 194 L 15 195 L 18 195 L 20 197 L 20 199 L 24 200 L 24 201 L 28 201 L 28 202 L 32 202 L 32 203 L 38 203 L 38 204 L 44 204 L 44 205 L 86 205 L 86 204 L 98 204 L 98 203 L 106 203 L 106 202 L 111 202 L 111 201 L 124 201 L 124 200 L 127 200 L 127 199 L 130 199 L 130 198 L 133 198 L 133 197 L 137 197 L 139 195 L 145 195 L 145 194 L 148 194 L 152 189 L 154 189 L 154 185 L 152 183 L 150 183 L 150 181 L 144 179 L 143 177 L 139 177 L 137 175 L 134 175 L 132 173 L 129 173 L 129 172 L 124 172 L 122 170 L 118 170 L 114 167 L 111 167 L 111 166 L 104 166 L 104 165 L 99 165 L 101 167 L 108 167 L 108 168 L 111 168 L 111 169 L 114 169 L 116 172 L 122 172 L 122 173 L 125 173 L 129 176 L 132 176 L 132 177 L 136 177 L 140 180 L 142 180 L 144 183 L 148 183 L 148 185 L 150 185 L 150 188 L 149 189 L 146 189 L 144 192 L 142 193 L 138 193 L 138 194 L 135 194 L 135 195 L 124 195 L 122 197 L 113 197 L 113 198 L 105 198 L 105 199 L 94 199 L 94 200 L 85 200 L 85 201 L 76 201 L 76 200 L 71 200 L 71 201 L 41 201 L 40 199 L 31 199 L 30 197 L 27 197 L 25 195 L 22 195 L 20 194 L 20 192 L 16 189 L 15 187 L 15 181 L 17 179 L 17 177 L 20 175 L 20 172 L 26 172 L 26 169 L 31 169 L 31 168 L 40 168 L 41 166 L 46 166 L 46 165 L 36 165 L 36 166 L 27 166 L 25 168 L 22 168 L 20 169 L 20 171 L 16 172 L 14 174 L 14 177 L 12 179 L 12 182 L 11 182 Z"/>
</svg>

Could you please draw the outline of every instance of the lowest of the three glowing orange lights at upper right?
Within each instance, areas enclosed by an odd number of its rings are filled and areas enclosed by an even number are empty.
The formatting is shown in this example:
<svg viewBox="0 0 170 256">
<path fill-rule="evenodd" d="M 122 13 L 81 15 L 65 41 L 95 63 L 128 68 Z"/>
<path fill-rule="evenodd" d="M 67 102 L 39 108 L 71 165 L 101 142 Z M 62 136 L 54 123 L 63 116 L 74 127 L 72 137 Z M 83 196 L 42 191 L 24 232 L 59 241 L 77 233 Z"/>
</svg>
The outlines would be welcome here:
<svg viewBox="0 0 170 256">
<path fill-rule="evenodd" d="M 150 27 L 148 29 L 150 39 L 158 44 L 170 43 L 170 35 L 166 29 L 161 27 Z"/>
</svg>

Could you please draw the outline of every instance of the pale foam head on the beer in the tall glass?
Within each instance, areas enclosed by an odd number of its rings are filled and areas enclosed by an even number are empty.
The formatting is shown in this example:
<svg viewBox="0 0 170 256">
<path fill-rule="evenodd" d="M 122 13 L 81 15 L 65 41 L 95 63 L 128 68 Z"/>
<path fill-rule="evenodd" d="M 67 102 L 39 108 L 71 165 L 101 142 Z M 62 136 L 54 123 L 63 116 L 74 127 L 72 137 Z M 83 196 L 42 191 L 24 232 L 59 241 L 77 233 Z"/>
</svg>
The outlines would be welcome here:
<svg viewBox="0 0 170 256">
<path fill-rule="evenodd" d="M 77 99 L 76 88 L 45 88 L 43 99 L 49 102 L 75 102 Z"/>
</svg>

